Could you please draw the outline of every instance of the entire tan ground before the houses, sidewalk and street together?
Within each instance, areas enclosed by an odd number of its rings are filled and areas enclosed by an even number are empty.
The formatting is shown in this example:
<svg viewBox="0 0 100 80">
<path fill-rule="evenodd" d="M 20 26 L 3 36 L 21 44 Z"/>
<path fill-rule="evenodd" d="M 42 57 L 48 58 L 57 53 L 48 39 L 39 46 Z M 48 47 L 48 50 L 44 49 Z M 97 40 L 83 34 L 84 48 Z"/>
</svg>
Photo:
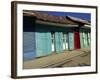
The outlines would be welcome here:
<svg viewBox="0 0 100 80">
<path fill-rule="evenodd" d="M 91 65 L 90 48 L 64 51 L 23 62 L 23 69 L 53 68 L 53 67 L 77 67 Z"/>
</svg>

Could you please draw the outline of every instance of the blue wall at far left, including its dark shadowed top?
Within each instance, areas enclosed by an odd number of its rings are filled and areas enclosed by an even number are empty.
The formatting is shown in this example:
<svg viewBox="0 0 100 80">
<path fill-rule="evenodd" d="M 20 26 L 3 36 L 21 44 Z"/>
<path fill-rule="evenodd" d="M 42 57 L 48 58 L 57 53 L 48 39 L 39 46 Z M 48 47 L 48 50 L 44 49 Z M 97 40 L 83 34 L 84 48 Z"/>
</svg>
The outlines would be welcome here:
<svg viewBox="0 0 100 80">
<path fill-rule="evenodd" d="M 32 17 L 23 17 L 23 59 L 29 60 L 36 57 L 36 44 Z"/>
</svg>

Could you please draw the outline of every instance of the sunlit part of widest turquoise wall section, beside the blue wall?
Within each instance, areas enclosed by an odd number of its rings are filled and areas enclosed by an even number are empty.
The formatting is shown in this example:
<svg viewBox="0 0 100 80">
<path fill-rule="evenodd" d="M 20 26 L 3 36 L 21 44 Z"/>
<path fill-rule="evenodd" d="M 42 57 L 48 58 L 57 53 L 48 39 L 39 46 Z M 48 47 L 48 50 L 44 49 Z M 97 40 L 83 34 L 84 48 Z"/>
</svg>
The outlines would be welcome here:
<svg viewBox="0 0 100 80">
<path fill-rule="evenodd" d="M 36 32 L 36 56 L 46 56 L 51 53 L 51 33 Z"/>
</svg>

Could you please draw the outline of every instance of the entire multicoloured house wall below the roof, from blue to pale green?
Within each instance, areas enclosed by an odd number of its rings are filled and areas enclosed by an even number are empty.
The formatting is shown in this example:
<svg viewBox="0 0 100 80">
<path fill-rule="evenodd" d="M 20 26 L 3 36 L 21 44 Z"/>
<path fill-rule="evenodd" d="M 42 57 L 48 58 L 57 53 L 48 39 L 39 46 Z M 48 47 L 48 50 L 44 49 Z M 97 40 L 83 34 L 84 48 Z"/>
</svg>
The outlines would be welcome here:
<svg viewBox="0 0 100 80">
<path fill-rule="evenodd" d="M 24 60 L 52 54 L 52 32 L 54 32 L 55 53 L 91 45 L 90 29 L 80 28 L 77 32 L 72 27 L 36 24 L 32 17 L 24 17 L 23 22 Z"/>
</svg>

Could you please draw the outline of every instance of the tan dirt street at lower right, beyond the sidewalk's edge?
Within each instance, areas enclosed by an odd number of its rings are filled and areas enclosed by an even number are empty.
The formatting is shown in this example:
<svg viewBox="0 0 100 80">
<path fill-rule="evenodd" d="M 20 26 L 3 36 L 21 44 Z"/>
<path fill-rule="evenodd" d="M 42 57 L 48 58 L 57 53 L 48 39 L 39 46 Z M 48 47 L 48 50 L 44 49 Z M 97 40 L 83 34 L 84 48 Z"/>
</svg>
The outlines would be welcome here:
<svg viewBox="0 0 100 80">
<path fill-rule="evenodd" d="M 77 66 L 90 66 L 91 64 L 90 53 L 85 56 L 77 56 L 58 67 L 77 67 Z"/>
</svg>

